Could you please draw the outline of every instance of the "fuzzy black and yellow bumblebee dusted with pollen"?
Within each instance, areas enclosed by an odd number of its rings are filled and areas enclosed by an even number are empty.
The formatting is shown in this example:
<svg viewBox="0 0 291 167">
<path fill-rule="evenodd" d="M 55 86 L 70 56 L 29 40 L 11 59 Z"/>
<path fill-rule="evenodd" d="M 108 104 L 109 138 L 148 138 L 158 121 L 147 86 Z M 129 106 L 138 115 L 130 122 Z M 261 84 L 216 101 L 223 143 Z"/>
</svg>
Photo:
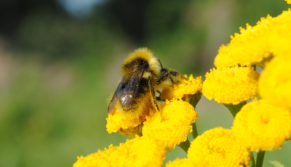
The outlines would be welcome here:
<svg viewBox="0 0 291 167">
<path fill-rule="evenodd" d="M 138 118 L 148 105 L 160 111 L 156 92 L 169 86 L 172 77 L 183 78 L 176 70 L 163 68 L 161 62 L 149 49 L 139 48 L 124 60 L 122 78 L 108 105 L 108 114 L 125 112 L 126 117 Z"/>
</svg>

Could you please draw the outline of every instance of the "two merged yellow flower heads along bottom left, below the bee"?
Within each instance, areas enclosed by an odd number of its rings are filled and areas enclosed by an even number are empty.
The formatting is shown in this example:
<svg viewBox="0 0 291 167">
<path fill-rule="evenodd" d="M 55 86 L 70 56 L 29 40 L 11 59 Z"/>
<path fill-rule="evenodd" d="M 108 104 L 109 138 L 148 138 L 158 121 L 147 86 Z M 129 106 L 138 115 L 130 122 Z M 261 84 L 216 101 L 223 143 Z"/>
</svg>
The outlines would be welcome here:
<svg viewBox="0 0 291 167">
<path fill-rule="evenodd" d="M 78 157 L 73 167 L 161 167 L 165 155 L 166 150 L 155 139 L 136 136 L 119 147 L 110 145 L 105 151 Z"/>
</svg>

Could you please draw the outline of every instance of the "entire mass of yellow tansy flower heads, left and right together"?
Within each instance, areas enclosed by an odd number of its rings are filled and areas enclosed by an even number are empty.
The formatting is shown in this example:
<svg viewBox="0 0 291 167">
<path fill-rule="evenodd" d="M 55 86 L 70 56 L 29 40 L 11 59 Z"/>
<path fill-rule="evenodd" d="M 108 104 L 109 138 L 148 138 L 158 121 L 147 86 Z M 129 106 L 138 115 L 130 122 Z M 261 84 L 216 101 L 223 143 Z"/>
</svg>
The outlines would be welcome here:
<svg viewBox="0 0 291 167">
<path fill-rule="evenodd" d="M 219 49 L 217 68 L 206 73 L 203 84 L 201 77 L 192 75 L 188 81 L 176 81 L 161 92 L 165 102 L 159 104 L 160 112 L 147 108 L 138 120 L 113 111 L 106 119 L 107 131 L 133 139 L 78 157 L 74 167 L 243 167 L 254 165 L 252 151 L 258 152 L 256 163 L 261 166 L 264 151 L 280 149 L 291 139 L 290 30 L 290 9 L 275 18 L 261 18 L 256 26 L 240 28 L 240 34 Z M 255 71 L 256 65 L 263 67 L 262 74 Z M 234 113 L 233 127 L 207 130 L 194 136 L 190 145 L 187 136 L 196 130 L 199 118 L 194 107 L 202 93 Z M 164 163 L 166 150 L 176 145 L 184 148 L 187 158 Z"/>
</svg>

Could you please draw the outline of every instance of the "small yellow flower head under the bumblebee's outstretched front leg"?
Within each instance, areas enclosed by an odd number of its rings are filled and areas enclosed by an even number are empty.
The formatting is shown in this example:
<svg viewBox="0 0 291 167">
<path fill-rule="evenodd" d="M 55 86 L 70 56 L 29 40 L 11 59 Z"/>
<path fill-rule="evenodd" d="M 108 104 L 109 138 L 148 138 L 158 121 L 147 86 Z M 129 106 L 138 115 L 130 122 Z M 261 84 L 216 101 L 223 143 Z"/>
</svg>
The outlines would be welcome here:
<svg viewBox="0 0 291 167">
<path fill-rule="evenodd" d="M 185 75 L 187 77 L 187 75 Z M 201 76 L 193 78 L 191 74 L 189 79 L 179 79 L 173 86 L 166 87 L 161 94 L 161 99 L 181 99 L 184 95 L 193 95 L 202 89 Z"/>
</svg>

